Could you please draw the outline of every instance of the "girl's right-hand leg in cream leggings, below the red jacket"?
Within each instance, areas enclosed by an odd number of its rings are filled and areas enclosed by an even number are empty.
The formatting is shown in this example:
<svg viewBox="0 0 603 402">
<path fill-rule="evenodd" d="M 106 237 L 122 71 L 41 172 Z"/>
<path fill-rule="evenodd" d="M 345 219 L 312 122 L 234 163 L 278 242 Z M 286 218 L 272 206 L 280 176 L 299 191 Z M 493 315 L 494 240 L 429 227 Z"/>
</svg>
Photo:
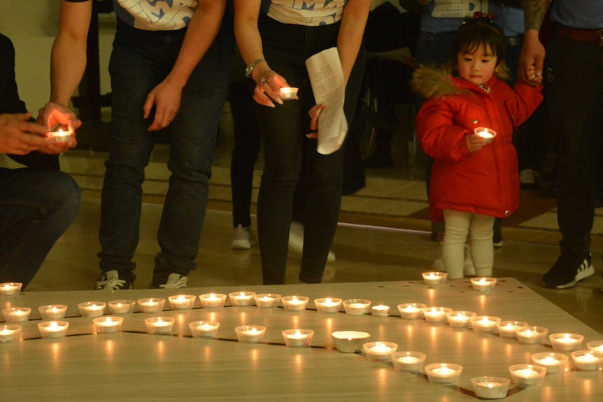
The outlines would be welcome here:
<svg viewBox="0 0 603 402">
<path fill-rule="evenodd" d="M 477 276 L 491 276 L 494 265 L 494 246 L 492 245 L 492 224 L 494 217 L 474 214 L 471 217 L 471 257 Z"/>
</svg>

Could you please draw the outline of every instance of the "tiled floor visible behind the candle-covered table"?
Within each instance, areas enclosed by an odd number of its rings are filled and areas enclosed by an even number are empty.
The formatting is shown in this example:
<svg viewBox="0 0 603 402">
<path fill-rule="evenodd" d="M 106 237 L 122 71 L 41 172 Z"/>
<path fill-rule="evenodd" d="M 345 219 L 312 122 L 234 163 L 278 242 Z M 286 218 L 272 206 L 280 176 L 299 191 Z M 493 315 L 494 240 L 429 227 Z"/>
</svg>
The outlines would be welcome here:
<svg viewBox="0 0 603 402">
<path fill-rule="evenodd" d="M 222 136 L 211 180 L 211 202 L 201 237 L 198 268 L 190 286 L 259 285 L 260 252 L 230 249 L 229 155 L 232 144 Z M 158 146 L 147 169 L 141 220 L 141 240 L 134 257 L 138 268 L 135 287 L 147 287 L 152 261 L 158 251 L 157 224 L 169 172 L 166 146 Z M 72 151 L 62 157 L 64 171 L 84 189 L 80 214 L 50 252 L 29 291 L 92 289 L 99 275 L 97 240 L 104 152 Z M 7 163 L 6 161 L 4 162 Z M 260 166 L 255 171 L 255 192 Z M 437 257 L 430 241 L 425 182 L 415 166 L 367 171 L 367 187 L 343 199 L 340 224 L 333 244 L 336 261 L 327 266 L 323 282 L 420 280 Z M 558 256 L 555 200 L 539 190 L 523 192 L 520 210 L 504 221 L 504 247 L 495 251 L 495 276 L 513 277 L 546 299 L 603 333 L 602 253 L 603 217 L 597 213 L 593 229 L 593 264 L 596 273 L 577 287 L 551 290 L 541 287 L 541 275 Z M 255 206 L 253 206 L 255 210 Z M 597 211 L 598 212 L 598 211 Z M 255 224 L 255 222 L 254 222 Z M 290 256 L 288 282 L 295 282 L 299 257 Z M 457 280 L 454 286 L 467 286 Z M 529 306 L 526 306 L 529 308 Z M 506 317 L 512 320 L 513 317 Z M 534 323 L 537 324 L 537 323 Z M 570 329 L 567 329 L 570 331 Z"/>
</svg>

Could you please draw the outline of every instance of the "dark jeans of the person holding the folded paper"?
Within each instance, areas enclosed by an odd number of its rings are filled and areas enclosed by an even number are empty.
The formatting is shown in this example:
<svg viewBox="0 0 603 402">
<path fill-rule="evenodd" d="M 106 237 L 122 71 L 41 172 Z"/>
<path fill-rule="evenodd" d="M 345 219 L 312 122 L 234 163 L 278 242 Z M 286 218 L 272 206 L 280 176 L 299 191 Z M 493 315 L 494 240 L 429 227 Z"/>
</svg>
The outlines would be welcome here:
<svg viewBox="0 0 603 402">
<path fill-rule="evenodd" d="M 297 101 L 285 101 L 276 108 L 255 104 L 264 143 L 264 173 L 257 201 L 257 232 L 262 254 L 264 285 L 285 283 L 289 227 L 293 192 L 300 173 L 305 175 L 308 199 L 304 219 L 304 254 L 299 280 L 322 280 L 327 254 L 333 241 L 341 206 L 343 149 L 320 155 L 316 141 L 308 140 L 308 110 L 314 106 L 305 60 L 336 46 L 339 24 L 303 27 L 281 24 L 260 15 L 264 57 L 271 69 L 281 74 L 292 87 L 298 87 Z M 357 99 L 364 58 L 359 57 L 346 88 L 346 117 L 350 122 Z M 302 149 L 307 148 L 305 172 Z"/>
</svg>

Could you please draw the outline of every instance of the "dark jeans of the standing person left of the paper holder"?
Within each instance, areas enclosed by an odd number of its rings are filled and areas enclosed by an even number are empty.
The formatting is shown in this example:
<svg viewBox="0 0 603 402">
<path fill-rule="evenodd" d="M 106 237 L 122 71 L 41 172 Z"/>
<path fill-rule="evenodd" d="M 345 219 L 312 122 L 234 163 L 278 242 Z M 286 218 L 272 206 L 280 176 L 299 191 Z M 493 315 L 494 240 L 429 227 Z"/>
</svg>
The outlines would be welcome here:
<svg viewBox="0 0 603 402">
<path fill-rule="evenodd" d="M 118 21 L 109 64 L 111 73 L 111 149 L 105 163 L 99 252 L 101 271 L 117 270 L 134 280 L 132 261 L 139 241 L 142 184 L 154 145 L 143 119 L 147 94 L 171 71 L 185 31 L 142 31 Z M 153 278 L 187 275 L 195 268 L 203 226 L 218 119 L 225 100 L 234 48 L 228 15 L 213 45 L 185 85 L 180 111 L 167 128 L 171 171 L 161 222 L 160 251 Z"/>
</svg>

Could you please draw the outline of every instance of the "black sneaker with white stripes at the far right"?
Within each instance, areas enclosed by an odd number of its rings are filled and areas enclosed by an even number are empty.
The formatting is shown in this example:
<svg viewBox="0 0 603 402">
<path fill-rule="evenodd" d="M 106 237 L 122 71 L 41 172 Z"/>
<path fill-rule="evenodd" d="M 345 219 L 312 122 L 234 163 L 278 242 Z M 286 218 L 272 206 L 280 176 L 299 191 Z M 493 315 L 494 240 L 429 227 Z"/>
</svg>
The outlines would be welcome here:
<svg viewBox="0 0 603 402">
<path fill-rule="evenodd" d="M 542 277 L 542 285 L 551 289 L 567 289 L 595 273 L 590 254 L 561 254 Z"/>
</svg>

